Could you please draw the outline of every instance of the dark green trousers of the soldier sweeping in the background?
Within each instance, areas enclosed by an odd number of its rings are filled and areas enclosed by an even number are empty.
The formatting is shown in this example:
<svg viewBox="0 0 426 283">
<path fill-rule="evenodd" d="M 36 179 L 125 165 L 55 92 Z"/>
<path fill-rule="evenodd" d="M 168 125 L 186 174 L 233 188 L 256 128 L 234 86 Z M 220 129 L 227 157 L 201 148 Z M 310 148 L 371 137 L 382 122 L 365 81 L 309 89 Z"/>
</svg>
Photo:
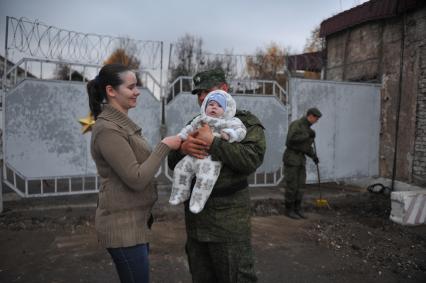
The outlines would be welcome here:
<svg viewBox="0 0 426 283">
<path fill-rule="evenodd" d="M 306 167 L 284 165 L 285 205 L 287 208 L 301 202 L 306 184 Z"/>
</svg>

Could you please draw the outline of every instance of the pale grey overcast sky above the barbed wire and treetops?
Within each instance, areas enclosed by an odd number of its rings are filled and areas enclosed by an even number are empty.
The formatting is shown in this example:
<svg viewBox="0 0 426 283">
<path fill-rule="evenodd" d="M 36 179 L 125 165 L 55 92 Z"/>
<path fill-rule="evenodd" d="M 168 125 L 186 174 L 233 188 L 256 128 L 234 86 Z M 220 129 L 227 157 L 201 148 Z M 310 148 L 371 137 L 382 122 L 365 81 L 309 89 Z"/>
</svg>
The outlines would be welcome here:
<svg viewBox="0 0 426 283">
<path fill-rule="evenodd" d="M 0 54 L 6 16 L 83 33 L 163 41 L 199 36 L 204 50 L 253 54 L 270 42 L 302 52 L 313 28 L 365 0 L 0 0 Z"/>
</svg>

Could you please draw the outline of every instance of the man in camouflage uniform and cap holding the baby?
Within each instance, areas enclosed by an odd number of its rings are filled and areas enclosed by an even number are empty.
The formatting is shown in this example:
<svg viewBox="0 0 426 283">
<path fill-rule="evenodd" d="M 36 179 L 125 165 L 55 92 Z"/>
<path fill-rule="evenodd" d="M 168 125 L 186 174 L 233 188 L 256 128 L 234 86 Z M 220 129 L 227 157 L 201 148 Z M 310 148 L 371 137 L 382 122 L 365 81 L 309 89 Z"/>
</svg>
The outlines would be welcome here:
<svg viewBox="0 0 426 283">
<path fill-rule="evenodd" d="M 212 90 L 228 91 L 225 74 L 220 69 L 196 74 L 194 85 L 192 94 L 197 95 L 199 105 Z M 262 164 L 266 142 L 264 127 L 256 116 L 237 110 L 235 117 L 247 128 L 241 142 L 229 143 L 213 137 L 205 125 L 190 135 L 180 150 L 168 156 L 171 169 L 186 154 L 198 158 L 210 154 L 223 164 L 203 211 L 194 214 L 188 208 L 188 201 L 185 203 L 186 252 L 195 283 L 257 282 L 247 178 Z"/>
</svg>

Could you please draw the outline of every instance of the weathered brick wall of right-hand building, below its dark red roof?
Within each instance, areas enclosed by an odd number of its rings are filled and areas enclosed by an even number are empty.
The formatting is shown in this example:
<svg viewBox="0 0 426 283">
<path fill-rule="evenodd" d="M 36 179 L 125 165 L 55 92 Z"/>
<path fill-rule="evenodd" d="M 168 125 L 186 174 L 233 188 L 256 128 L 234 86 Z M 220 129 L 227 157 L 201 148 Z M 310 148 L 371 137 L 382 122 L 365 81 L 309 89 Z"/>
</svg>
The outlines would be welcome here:
<svg viewBox="0 0 426 283">
<path fill-rule="evenodd" d="M 426 43 L 426 7 L 408 13 L 405 19 L 404 52 L 401 63 L 403 17 L 361 24 L 326 38 L 326 79 L 381 82 L 380 174 L 391 177 L 395 148 L 395 124 L 399 85 L 402 99 L 398 133 L 397 179 L 418 182 L 413 177 L 415 136 L 421 129 L 417 93 L 420 79 L 420 46 Z M 400 81 L 400 66 L 403 75 Z M 416 114 L 417 113 L 417 114 Z M 421 160 L 426 161 L 421 158 Z M 422 161 L 422 162 L 423 162 Z M 418 166 L 417 166 L 418 167 Z M 426 174 L 426 169 L 416 171 Z"/>
</svg>

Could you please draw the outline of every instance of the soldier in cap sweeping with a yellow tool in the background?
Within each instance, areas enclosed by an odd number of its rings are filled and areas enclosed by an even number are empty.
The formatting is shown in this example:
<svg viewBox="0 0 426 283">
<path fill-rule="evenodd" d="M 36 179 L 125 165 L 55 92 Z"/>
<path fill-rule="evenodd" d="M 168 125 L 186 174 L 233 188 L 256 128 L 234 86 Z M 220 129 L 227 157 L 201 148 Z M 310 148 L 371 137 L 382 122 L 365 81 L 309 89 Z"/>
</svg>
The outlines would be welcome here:
<svg viewBox="0 0 426 283">
<path fill-rule="evenodd" d="M 322 116 L 317 108 L 310 108 L 306 116 L 291 122 L 288 127 L 284 152 L 285 214 L 292 219 L 306 218 L 302 211 L 303 189 L 306 184 L 306 157 L 319 163 L 312 147 L 315 131 L 311 126 Z"/>
</svg>

